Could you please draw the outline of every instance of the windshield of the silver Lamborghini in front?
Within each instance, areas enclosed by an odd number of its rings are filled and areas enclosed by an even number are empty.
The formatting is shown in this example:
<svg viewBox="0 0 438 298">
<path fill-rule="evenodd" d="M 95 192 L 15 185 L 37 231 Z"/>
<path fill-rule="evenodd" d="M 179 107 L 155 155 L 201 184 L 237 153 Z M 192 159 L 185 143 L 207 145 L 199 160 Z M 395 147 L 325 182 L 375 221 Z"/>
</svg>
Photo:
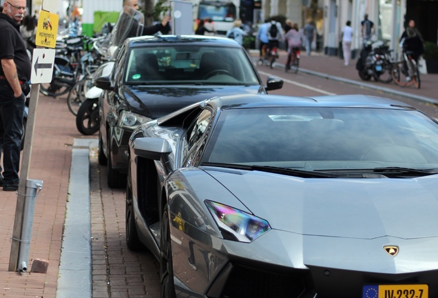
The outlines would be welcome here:
<svg viewBox="0 0 438 298">
<path fill-rule="evenodd" d="M 224 110 L 202 161 L 309 170 L 438 168 L 438 125 L 412 110 Z"/>
</svg>

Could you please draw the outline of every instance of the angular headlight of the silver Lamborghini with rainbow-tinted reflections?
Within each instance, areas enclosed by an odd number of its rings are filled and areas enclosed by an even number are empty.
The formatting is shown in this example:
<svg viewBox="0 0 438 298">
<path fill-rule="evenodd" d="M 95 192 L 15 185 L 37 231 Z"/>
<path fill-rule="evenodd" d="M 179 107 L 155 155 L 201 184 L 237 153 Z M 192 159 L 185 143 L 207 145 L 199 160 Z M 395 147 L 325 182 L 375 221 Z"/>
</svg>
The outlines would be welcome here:
<svg viewBox="0 0 438 298">
<path fill-rule="evenodd" d="M 271 230 L 269 223 L 242 210 L 221 203 L 205 201 L 225 239 L 251 242 Z"/>
</svg>

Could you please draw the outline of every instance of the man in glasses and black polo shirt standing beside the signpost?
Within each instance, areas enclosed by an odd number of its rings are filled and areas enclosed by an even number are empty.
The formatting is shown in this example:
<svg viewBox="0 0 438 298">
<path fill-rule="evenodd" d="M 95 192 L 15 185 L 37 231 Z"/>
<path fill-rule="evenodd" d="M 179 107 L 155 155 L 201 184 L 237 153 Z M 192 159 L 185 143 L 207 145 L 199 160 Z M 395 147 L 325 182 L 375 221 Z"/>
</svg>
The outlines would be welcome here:
<svg viewBox="0 0 438 298">
<path fill-rule="evenodd" d="M 25 10 L 26 0 L 8 0 L 0 13 L 0 145 L 3 149 L 0 185 L 6 191 L 17 190 L 19 185 L 25 106 L 22 86 L 30 80 L 32 67 L 19 27 Z"/>
</svg>

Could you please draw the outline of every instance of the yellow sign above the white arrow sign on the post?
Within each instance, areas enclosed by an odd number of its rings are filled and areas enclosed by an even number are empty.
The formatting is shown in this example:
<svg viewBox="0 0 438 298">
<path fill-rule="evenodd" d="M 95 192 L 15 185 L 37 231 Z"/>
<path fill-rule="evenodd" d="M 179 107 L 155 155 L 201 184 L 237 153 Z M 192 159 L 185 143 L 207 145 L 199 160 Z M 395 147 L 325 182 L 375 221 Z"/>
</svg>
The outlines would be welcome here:
<svg viewBox="0 0 438 298">
<path fill-rule="evenodd" d="M 56 46 L 56 33 L 58 32 L 59 15 L 41 10 L 36 27 L 35 45 L 46 48 Z"/>
</svg>

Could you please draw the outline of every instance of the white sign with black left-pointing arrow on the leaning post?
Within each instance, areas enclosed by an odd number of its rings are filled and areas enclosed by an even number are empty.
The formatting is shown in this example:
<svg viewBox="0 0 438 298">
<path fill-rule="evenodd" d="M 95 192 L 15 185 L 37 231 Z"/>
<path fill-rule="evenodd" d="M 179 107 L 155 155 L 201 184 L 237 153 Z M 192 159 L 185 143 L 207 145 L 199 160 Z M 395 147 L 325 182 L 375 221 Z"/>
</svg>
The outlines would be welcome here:
<svg viewBox="0 0 438 298">
<path fill-rule="evenodd" d="M 50 83 L 52 81 L 54 56 L 54 49 L 34 49 L 30 83 Z"/>
</svg>

